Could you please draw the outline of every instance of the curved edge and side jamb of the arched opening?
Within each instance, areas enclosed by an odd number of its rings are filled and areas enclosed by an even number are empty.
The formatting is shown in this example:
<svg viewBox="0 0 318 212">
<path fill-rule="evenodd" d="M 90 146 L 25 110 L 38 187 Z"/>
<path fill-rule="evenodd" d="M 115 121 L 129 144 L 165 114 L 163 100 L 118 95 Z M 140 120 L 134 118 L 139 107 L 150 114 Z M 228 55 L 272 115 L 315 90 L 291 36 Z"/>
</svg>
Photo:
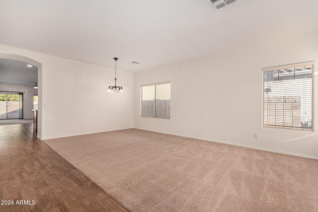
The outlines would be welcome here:
<svg viewBox="0 0 318 212">
<path fill-rule="evenodd" d="M 42 138 L 42 64 L 39 63 L 38 61 L 35 61 L 31 58 L 22 56 L 22 55 L 16 55 L 16 54 L 11 54 L 11 53 L 2 53 L 0 52 L 0 59 L 11 59 L 11 60 L 16 60 L 16 61 L 22 61 L 24 63 L 28 63 L 32 66 L 35 66 L 38 68 L 38 134 L 37 138 L 41 140 Z"/>
</svg>

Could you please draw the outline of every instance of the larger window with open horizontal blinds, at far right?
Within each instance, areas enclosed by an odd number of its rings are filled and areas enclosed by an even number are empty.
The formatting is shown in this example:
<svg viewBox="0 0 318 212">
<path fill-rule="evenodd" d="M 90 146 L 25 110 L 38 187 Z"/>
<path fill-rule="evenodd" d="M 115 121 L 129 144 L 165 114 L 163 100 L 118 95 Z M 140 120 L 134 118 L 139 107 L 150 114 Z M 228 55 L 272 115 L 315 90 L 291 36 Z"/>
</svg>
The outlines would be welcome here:
<svg viewBox="0 0 318 212">
<path fill-rule="evenodd" d="M 314 62 L 263 69 L 263 126 L 313 131 Z"/>
</svg>

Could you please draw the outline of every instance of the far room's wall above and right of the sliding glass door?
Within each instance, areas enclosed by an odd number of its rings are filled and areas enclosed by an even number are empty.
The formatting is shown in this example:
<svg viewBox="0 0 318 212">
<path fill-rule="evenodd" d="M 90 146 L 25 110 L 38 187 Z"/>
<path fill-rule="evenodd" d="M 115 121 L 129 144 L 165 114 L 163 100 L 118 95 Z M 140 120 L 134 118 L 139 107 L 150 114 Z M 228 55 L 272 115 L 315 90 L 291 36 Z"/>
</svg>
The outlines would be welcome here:
<svg viewBox="0 0 318 212">
<path fill-rule="evenodd" d="M 25 87 L 21 84 L 0 82 L 0 91 L 23 93 L 23 119 L 33 119 L 33 96 L 38 94 L 37 89 Z"/>
</svg>

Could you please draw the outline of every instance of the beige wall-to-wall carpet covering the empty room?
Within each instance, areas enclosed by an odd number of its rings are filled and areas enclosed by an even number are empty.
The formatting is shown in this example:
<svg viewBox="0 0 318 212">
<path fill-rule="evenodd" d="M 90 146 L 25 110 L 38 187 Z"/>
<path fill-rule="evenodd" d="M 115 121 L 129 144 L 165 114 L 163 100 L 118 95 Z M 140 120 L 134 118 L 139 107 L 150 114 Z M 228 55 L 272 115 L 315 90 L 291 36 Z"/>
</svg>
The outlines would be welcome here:
<svg viewBox="0 0 318 212">
<path fill-rule="evenodd" d="M 131 212 L 318 211 L 318 160 L 137 129 L 45 142 Z"/>
</svg>

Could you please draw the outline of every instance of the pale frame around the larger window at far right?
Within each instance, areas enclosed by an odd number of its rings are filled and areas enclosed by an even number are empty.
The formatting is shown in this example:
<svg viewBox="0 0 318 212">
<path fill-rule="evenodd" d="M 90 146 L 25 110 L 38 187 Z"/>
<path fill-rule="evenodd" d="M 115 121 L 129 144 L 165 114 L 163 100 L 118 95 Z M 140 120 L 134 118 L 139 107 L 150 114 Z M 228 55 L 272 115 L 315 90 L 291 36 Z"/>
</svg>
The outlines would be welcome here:
<svg viewBox="0 0 318 212">
<path fill-rule="evenodd" d="M 265 71 L 275 71 L 280 69 L 292 69 L 296 67 L 304 67 L 304 66 L 313 66 L 312 69 L 312 129 L 305 129 L 305 128 L 295 128 L 295 127 L 287 127 L 287 126 L 266 126 L 264 124 L 265 119 Z M 262 127 L 263 128 L 271 128 L 271 129 L 283 129 L 283 130 L 294 130 L 294 131 L 306 131 L 306 132 L 314 132 L 315 131 L 315 62 L 309 61 L 309 62 L 303 62 L 303 63 L 296 63 L 296 64 L 289 64 L 289 65 L 283 65 L 283 66 L 275 66 L 275 67 L 268 67 L 262 69 Z"/>
</svg>

